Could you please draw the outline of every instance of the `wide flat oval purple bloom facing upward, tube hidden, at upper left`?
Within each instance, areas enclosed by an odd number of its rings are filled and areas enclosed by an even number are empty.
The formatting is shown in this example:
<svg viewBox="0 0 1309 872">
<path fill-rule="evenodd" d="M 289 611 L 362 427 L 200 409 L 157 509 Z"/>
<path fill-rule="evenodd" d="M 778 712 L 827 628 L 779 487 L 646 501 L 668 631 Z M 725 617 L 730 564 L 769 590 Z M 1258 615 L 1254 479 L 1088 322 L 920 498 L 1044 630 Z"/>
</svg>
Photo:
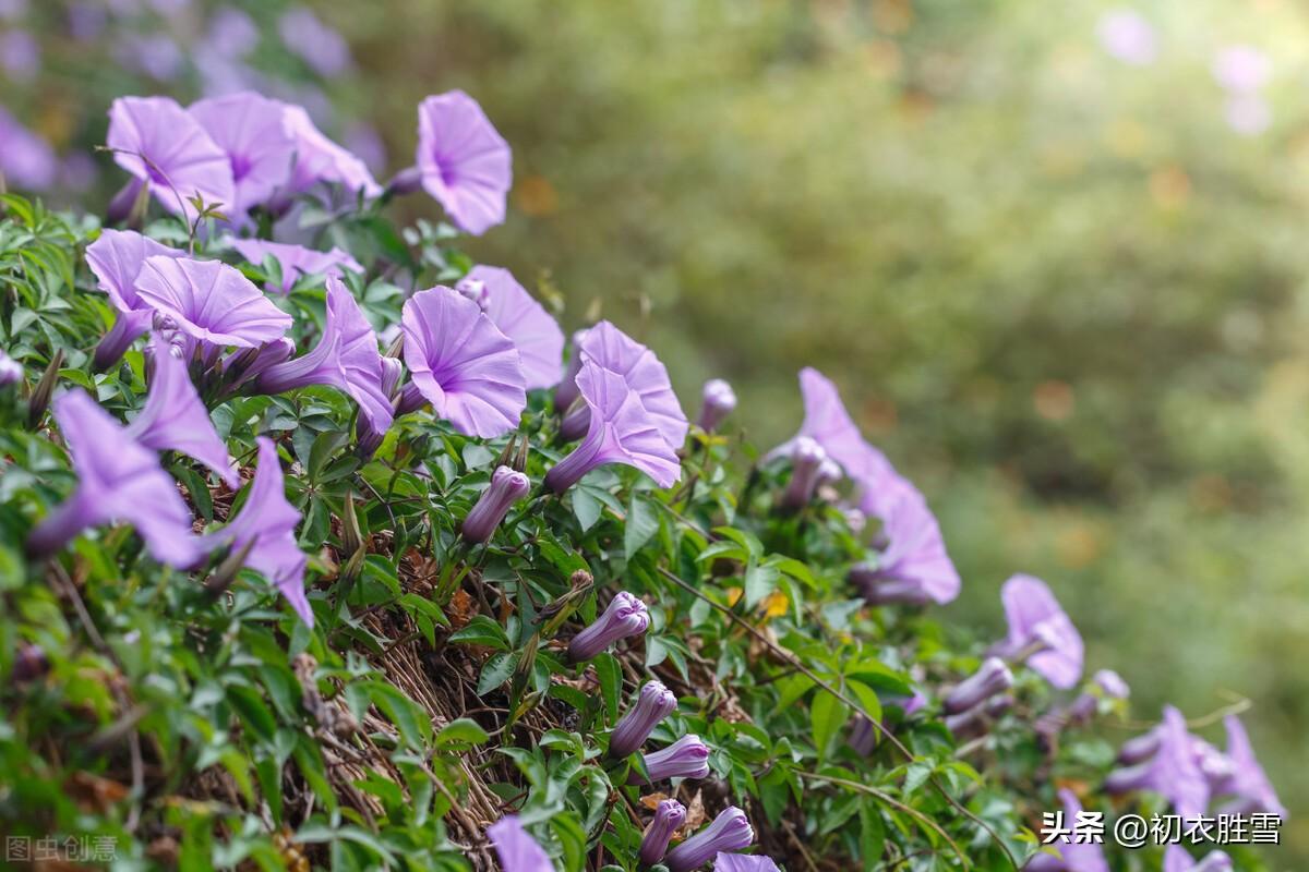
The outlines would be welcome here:
<svg viewBox="0 0 1309 872">
<path fill-rule="evenodd" d="M 217 260 L 149 256 L 136 278 L 136 293 L 174 329 L 209 348 L 253 348 L 291 328 L 291 315 Z"/>
</svg>

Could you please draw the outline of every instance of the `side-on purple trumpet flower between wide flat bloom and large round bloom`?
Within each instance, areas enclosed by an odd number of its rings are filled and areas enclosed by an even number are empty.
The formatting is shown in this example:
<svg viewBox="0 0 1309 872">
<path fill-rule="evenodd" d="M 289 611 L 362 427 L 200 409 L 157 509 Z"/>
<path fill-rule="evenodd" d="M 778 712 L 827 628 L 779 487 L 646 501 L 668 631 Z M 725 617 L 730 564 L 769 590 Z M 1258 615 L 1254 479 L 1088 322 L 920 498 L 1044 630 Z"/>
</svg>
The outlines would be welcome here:
<svg viewBox="0 0 1309 872">
<path fill-rule="evenodd" d="M 391 400 L 382 391 L 377 333 L 336 276 L 327 276 L 327 316 L 318 344 L 302 357 L 268 367 L 255 384 L 264 394 L 326 384 L 359 403 L 373 430 L 386 433 L 391 426 Z"/>
</svg>

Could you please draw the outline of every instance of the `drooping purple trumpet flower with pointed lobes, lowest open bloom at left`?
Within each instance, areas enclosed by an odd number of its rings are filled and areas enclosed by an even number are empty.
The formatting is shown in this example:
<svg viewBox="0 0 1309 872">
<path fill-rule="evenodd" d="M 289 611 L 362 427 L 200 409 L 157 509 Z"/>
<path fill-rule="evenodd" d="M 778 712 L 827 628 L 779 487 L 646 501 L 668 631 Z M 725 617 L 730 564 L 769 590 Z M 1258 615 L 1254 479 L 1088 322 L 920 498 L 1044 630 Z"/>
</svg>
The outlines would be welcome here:
<svg viewBox="0 0 1309 872">
<path fill-rule="evenodd" d="M 259 465 L 246 493 L 245 503 L 226 527 L 202 537 L 204 548 L 229 546 L 233 552 L 250 545 L 245 565 L 262 573 L 281 592 L 306 625 L 314 625 L 314 612 L 305 596 L 305 554 L 296 544 L 300 510 L 287 501 L 281 463 L 272 439 L 259 437 Z"/>
</svg>

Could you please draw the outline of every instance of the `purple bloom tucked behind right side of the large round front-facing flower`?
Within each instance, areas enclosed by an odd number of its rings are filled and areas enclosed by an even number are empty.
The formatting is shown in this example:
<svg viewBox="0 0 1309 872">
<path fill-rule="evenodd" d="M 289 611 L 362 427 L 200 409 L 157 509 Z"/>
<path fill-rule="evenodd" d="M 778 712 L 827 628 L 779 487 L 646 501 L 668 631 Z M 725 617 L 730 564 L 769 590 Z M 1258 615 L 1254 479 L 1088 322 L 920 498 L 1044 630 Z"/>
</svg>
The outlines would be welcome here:
<svg viewBox="0 0 1309 872">
<path fill-rule="evenodd" d="M 529 391 L 559 383 L 564 333 L 513 273 L 500 267 L 474 267 L 454 289 L 465 295 L 474 293 L 491 323 L 513 340 Z"/>
</svg>

